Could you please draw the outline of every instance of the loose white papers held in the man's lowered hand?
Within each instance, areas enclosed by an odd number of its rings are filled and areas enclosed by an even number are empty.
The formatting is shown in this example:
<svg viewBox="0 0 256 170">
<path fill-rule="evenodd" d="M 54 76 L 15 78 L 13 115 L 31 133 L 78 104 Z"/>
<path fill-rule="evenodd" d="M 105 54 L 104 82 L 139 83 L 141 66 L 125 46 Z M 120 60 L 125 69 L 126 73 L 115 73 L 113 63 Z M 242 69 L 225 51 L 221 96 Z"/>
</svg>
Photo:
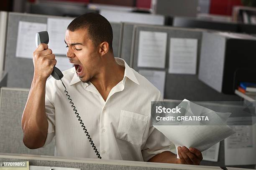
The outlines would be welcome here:
<svg viewBox="0 0 256 170">
<path fill-rule="evenodd" d="M 186 146 L 187 148 L 196 148 L 202 152 L 235 133 L 226 125 L 225 119 L 228 116 L 219 116 L 220 114 L 230 115 L 231 113 L 217 113 L 186 99 L 178 107 L 184 108 L 185 116 L 207 115 L 213 124 L 200 125 L 200 121 L 195 121 L 195 125 L 188 125 L 186 121 L 166 124 L 163 120 L 155 123 L 153 126 L 174 143 L 176 151 L 179 146 Z M 167 117 L 171 115 L 172 113 Z M 177 158 L 179 158 L 179 155 L 177 155 Z"/>
</svg>

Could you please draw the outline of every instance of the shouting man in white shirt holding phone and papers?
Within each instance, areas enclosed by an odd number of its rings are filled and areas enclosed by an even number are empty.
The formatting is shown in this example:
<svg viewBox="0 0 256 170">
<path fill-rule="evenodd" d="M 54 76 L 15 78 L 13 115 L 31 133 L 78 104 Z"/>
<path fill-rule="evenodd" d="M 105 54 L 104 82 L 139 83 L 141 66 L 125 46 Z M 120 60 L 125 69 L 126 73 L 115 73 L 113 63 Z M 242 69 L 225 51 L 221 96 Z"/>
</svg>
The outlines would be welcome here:
<svg viewBox="0 0 256 170">
<path fill-rule="evenodd" d="M 151 101 L 160 92 L 145 77 L 115 58 L 110 23 L 96 13 L 75 18 L 68 26 L 67 57 L 74 64 L 62 81 L 103 159 L 199 165 L 195 148 L 174 145 L 151 125 Z M 61 81 L 51 78 L 55 55 L 46 44 L 33 53 L 34 77 L 23 112 L 23 142 L 41 148 L 55 138 L 55 155 L 97 158 Z M 178 132 L 177 132 L 178 133 Z"/>
</svg>

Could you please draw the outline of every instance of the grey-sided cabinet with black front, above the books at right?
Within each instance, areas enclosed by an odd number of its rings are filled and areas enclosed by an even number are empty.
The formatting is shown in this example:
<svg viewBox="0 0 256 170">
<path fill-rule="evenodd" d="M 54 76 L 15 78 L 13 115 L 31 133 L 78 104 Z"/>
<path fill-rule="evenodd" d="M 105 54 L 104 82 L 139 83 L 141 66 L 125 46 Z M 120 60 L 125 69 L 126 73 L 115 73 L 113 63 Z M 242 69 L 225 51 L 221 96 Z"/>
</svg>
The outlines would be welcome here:
<svg viewBox="0 0 256 170">
<path fill-rule="evenodd" d="M 199 79 L 225 94 L 234 94 L 240 82 L 256 82 L 255 46 L 251 35 L 204 32 Z"/>
</svg>

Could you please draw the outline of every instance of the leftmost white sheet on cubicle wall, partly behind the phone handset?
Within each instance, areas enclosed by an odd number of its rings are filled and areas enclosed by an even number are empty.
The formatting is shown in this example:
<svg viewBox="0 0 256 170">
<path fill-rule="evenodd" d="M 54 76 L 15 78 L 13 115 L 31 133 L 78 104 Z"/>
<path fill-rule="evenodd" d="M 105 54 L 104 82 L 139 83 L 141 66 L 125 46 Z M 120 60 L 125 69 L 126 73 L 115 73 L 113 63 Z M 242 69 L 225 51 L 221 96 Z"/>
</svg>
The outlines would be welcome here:
<svg viewBox="0 0 256 170">
<path fill-rule="evenodd" d="M 19 21 L 16 57 L 33 58 L 36 50 L 36 33 L 46 30 L 46 24 Z"/>
</svg>

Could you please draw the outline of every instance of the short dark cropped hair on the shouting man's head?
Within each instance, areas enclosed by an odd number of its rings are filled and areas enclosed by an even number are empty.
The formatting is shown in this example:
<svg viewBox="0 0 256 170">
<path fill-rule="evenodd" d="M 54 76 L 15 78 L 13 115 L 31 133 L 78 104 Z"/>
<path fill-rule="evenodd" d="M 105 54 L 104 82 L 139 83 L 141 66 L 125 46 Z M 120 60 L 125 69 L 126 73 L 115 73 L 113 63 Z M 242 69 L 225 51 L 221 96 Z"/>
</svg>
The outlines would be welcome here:
<svg viewBox="0 0 256 170">
<path fill-rule="evenodd" d="M 97 13 L 86 13 L 75 18 L 67 27 L 70 31 L 87 29 L 88 36 L 95 46 L 106 41 L 113 52 L 113 30 L 108 20 Z"/>
</svg>

